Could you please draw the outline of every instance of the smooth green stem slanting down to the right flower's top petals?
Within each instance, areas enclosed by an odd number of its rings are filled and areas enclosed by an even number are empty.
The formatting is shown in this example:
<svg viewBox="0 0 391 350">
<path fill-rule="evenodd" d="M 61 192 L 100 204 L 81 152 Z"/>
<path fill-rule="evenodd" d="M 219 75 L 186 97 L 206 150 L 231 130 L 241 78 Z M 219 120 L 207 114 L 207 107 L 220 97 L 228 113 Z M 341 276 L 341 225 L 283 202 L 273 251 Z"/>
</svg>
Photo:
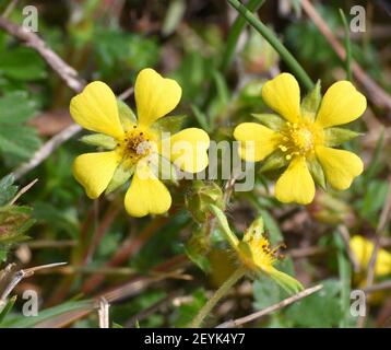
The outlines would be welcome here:
<svg viewBox="0 0 391 350">
<path fill-rule="evenodd" d="M 246 21 L 253 26 L 268 42 L 269 44 L 279 52 L 281 58 L 285 63 L 291 68 L 295 73 L 298 80 L 304 84 L 307 90 L 313 89 L 313 82 L 308 77 L 307 72 L 303 69 L 300 63 L 296 58 L 286 49 L 286 47 L 279 40 L 274 33 L 265 26 L 260 20 L 254 16 L 251 11 L 249 11 L 244 4 L 238 0 L 227 0 L 232 7 L 234 7 L 245 19 Z"/>
</svg>

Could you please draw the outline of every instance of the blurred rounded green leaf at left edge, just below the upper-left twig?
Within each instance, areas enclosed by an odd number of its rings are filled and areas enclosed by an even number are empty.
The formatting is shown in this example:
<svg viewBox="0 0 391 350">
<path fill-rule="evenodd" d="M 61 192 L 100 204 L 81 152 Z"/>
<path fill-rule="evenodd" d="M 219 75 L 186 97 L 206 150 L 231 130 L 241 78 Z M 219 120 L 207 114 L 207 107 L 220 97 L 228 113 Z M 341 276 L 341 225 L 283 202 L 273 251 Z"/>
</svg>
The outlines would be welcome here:
<svg viewBox="0 0 391 350">
<path fill-rule="evenodd" d="M 26 47 L 1 52 L 0 74 L 21 81 L 33 81 L 47 77 L 43 59 L 33 49 Z"/>
</svg>

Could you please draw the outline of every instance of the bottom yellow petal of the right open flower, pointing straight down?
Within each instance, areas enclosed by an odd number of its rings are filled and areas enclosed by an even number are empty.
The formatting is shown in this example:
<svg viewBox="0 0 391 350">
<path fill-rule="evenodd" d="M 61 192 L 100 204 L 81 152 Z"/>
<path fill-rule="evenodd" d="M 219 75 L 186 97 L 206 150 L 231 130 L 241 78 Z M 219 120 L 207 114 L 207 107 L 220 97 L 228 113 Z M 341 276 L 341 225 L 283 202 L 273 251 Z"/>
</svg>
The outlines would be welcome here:
<svg viewBox="0 0 391 350">
<path fill-rule="evenodd" d="M 306 160 L 295 158 L 275 184 L 275 197 L 284 202 L 308 205 L 315 196 L 315 184 Z"/>
</svg>

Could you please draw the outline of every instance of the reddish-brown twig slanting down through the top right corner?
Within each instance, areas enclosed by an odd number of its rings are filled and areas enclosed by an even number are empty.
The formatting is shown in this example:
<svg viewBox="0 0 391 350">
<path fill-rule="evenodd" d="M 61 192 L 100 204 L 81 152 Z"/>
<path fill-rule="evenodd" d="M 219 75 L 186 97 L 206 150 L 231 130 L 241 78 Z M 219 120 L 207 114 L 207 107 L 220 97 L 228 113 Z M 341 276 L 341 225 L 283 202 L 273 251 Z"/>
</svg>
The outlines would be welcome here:
<svg viewBox="0 0 391 350">
<path fill-rule="evenodd" d="M 329 42 L 335 54 L 344 60 L 346 56 L 344 47 L 340 44 L 329 25 L 319 15 L 311 2 L 309 0 L 301 0 L 301 7 L 307 15 L 312 20 L 313 24 L 318 27 L 320 33 L 323 34 L 324 38 Z M 366 90 L 370 100 L 376 105 L 391 110 L 391 96 L 380 85 L 378 85 L 377 82 L 375 82 L 356 61 L 352 61 L 352 71 L 357 81 Z"/>
</svg>

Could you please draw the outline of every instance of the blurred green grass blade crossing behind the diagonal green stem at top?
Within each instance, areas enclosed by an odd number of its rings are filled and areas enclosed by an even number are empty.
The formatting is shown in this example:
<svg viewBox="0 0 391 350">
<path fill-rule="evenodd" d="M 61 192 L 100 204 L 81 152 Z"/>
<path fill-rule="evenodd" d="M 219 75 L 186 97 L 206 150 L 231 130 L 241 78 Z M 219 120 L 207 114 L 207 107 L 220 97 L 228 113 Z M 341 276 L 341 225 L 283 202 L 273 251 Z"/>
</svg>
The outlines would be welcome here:
<svg viewBox="0 0 391 350">
<path fill-rule="evenodd" d="M 263 2 L 264 0 L 250 0 L 248 2 L 247 9 L 251 12 L 256 12 L 263 4 Z M 228 70 L 234 59 L 236 45 L 238 43 L 240 33 L 244 30 L 245 25 L 246 25 L 246 20 L 239 15 L 235 20 L 233 26 L 230 27 L 227 37 L 227 45 L 225 47 L 225 52 L 223 55 L 223 61 L 222 61 L 223 72 Z"/>
</svg>

